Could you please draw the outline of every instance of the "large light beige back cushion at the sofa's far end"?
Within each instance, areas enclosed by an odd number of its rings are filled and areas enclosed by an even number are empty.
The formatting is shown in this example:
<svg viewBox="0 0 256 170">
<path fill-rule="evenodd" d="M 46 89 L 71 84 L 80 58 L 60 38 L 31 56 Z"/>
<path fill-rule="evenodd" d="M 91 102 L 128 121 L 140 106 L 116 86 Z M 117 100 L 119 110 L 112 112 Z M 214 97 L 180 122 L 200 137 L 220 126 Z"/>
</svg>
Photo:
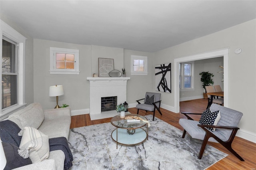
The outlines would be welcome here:
<svg viewBox="0 0 256 170">
<path fill-rule="evenodd" d="M 24 109 L 13 113 L 8 119 L 15 122 L 20 128 L 38 128 L 44 121 L 44 111 L 40 103 L 32 103 Z"/>
</svg>

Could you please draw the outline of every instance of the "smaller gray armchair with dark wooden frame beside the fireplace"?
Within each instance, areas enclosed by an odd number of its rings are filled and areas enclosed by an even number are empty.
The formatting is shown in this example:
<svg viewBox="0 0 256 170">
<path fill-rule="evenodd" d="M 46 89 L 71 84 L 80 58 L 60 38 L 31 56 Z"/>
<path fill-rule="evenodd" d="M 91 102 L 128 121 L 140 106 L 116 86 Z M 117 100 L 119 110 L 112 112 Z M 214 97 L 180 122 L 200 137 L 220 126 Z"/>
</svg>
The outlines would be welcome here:
<svg viewBox="0 0 256 170">
<path fill-rule="evenodd" d="M 144 100 L 144 103 L 140 103 L 139 101 Z M 152 92 L 146 92 L 145 98 L 136 100 L 138 102 L 138 105 L 136 105 L 137 115 L 139 114 L 139 110 L 144 111 L 150 111 L 153 112 L 153 121 L 155 118 L 155 111 L 158 110 L 160 115 L 162 115 L 160 111 L 160 105 L 161 105 L 161 93 L 152 93 Z"/>
</svg>

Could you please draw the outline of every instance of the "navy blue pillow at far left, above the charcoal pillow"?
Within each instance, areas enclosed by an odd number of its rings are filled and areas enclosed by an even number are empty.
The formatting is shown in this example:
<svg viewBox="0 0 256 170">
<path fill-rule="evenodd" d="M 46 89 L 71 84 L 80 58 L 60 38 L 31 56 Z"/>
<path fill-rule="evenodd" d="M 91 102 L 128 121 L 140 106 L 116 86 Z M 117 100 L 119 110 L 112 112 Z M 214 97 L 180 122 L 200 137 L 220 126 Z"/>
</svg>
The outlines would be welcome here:
<svg viewBox="0 0 256 170">
<path fill-rule="evenodd" d="M 0 136 L 2 142 L 14 144 L 19 147 L 22 137 L 18 135 L 20 130 L 20 127 L 13 121 L 0 121 Z"/>
</svg>

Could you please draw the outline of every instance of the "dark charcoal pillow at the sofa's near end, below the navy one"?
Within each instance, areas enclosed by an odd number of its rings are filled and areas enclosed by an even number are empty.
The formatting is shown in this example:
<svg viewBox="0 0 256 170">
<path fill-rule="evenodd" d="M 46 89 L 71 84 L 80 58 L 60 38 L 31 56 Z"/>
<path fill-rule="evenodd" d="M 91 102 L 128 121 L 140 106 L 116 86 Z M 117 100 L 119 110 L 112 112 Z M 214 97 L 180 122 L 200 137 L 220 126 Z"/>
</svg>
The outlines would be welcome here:
<svg viewBox="0 0 256 170">
<path fill-rule="evenodd" d="M 24 159 L 18 154 L 19 148 L 17 146 L 5 142 L 2 142 L 2 145 L 6 157 L 6 166 L 4 170 L 11 170 L 14 168 L 32 164 L 30 158 Z"/>
</svg>

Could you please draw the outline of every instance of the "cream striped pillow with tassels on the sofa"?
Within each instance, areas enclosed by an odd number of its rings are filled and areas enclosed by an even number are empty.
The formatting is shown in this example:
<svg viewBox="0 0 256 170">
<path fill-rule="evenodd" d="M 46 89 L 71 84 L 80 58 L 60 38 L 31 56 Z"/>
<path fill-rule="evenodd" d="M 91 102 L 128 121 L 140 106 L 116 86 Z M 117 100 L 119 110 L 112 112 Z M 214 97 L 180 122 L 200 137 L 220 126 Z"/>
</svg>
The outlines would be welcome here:
<svg viewBox="0 0 256 170">
<path fill-rule="evenodd" d="M 20 142 L 20 149 L 23 153 L 28 150 L 32 163 L 41 162 L 49 157 L 49 138 L 36 128 L 25 127 Z M 26 156 L 26 154 L 22 156 Z"/>
</svg>

